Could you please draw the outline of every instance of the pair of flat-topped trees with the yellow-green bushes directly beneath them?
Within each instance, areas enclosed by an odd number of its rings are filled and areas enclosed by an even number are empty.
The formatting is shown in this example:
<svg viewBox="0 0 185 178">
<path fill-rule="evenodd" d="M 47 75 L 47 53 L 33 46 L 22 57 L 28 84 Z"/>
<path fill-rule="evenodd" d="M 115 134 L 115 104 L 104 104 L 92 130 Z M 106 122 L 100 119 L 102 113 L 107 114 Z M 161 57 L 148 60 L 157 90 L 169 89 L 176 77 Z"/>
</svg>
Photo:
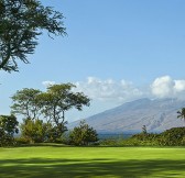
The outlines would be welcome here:
<svg viewBox="0 0 185 178">
<path fill-rule="evenodd" d="M 87 96 L 73 91 L 74 87 L 72 84 L 62 84 L 50 86 L 46 92 L 32 88 L 17 91 L 11 109 L 12 113 L 24 116 L 22 136 L 31 143 L 58 142 L 67 131 L 65 112 L 72 108 L 80 111 L 84 105 L 90 104 Z"/>
</svg>

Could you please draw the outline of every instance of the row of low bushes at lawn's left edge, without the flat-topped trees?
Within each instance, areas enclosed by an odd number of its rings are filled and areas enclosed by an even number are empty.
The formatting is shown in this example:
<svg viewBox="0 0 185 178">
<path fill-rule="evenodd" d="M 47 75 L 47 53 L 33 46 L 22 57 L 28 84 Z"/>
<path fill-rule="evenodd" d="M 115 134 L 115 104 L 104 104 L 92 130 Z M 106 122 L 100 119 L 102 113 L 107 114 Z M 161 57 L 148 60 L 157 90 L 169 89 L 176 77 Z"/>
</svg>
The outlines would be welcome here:
<svg viewBox="0 0 185 178">
<path fill-rule="evenodd" d="M 14 136 L 14 134 L 19 136 Z M 20 124 L 14 115 L 0 115 L 0 146 L 20 146 L 35 143 L 61 143 L 76 146 L 95 145 L 98 141 L 96 130 L 85 121 L 72 131 L 59 130 L 43 120 L 26 119 Z"/>
</svg>

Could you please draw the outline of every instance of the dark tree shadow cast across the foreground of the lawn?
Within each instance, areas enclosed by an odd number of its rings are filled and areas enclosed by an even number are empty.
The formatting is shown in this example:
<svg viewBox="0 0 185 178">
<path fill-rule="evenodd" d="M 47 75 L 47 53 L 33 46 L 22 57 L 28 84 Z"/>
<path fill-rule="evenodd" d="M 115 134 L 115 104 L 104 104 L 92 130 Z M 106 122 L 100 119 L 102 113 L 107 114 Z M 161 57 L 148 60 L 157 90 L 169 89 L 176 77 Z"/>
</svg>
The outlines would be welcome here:
<svg viewBox="0 0 185 178">
<path fill-rule="evenodd" d="M 185 160 L 117 159 L 7 159 L 0 160 L 2 178 L 73 177 L 185 177 Z"/>
</svg>

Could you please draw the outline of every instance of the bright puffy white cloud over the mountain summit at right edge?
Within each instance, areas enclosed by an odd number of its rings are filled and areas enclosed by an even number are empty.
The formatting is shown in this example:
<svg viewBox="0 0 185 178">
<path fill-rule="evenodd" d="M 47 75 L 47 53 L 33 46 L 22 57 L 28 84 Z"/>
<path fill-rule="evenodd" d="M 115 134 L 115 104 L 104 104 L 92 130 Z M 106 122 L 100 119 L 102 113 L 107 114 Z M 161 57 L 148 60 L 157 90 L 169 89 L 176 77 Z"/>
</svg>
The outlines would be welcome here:
<svg viewBox="0 0 185 178">
<path fill-rule="evenodd" d="M 185 92 L 185 80 L 173 80 L 170 76 L 156 78 L 151 85 L 151 91 L 155 97 L 176 97 Z"/>
</svg>

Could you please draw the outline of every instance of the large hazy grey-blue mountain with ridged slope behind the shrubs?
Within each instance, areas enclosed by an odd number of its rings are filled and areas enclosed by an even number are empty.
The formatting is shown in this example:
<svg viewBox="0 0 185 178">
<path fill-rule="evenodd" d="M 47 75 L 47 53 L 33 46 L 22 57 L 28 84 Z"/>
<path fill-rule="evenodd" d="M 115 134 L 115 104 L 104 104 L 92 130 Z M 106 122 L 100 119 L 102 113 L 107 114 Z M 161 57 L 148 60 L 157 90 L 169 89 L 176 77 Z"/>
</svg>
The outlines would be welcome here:
<svg viewBox="0 0 185 178">
<path fill-rule="evenodd" d="M 99 133 L 137 133 L 145 125 L 149 132 L 162 132 L 185 125 L 177 119 L 177 111 L 185 107 L 178 99 L 139 99 L 87 118 L 87 123 Z M 68 125 L 76 126 L 79 121 Z"/>
</svg>

